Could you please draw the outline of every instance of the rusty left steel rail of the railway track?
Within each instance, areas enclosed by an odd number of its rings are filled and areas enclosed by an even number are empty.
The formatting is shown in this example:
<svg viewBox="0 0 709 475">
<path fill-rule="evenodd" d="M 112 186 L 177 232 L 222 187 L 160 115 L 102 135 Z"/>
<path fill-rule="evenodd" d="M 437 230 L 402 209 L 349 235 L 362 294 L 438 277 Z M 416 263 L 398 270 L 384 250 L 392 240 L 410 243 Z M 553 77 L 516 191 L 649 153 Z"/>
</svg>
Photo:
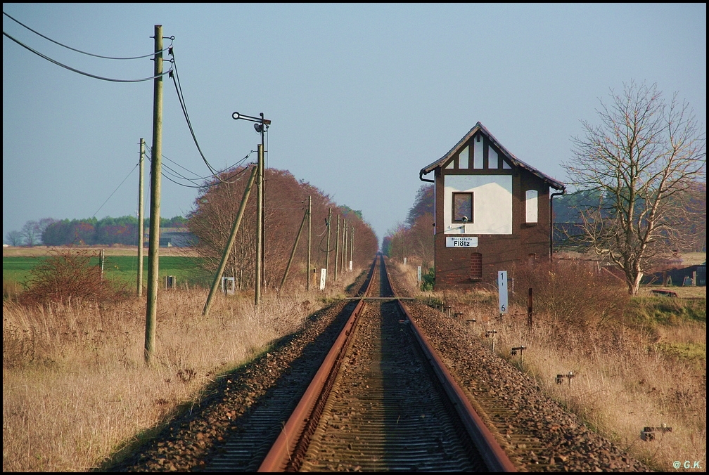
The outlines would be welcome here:
<svg viewBox="0 0 709 475">
<path fill-rule="evenodd" d="M 372 277 L 374 275 L 374 266 L 379 262 L 379 256 L 374 259 L 372 269 L 369 270 L 367 276 L 367 285 L 364 290 L 364 295 L 369 294 L 372 286 Z M 342 355 L 347 350 L 347 343 L 354 332 L 352 331 L 359 314 L 364 308 L 364 298 L 359 299 L 359 303 L 354 307 L 350 319 L 347 320 L 345 327 L 342 328 L 340 335 L 337 336 L 333 347 L 330 348 L 328 355 L 325 356 L 320 369 L 315 377 L 308 385 L 305 394 L 301 397 L 295 410 L 284 425 L 283 430 L 279 434 L 276 442 L 272 445 L 266 458 L 259 466 L 258 471 L 285 471 L 291 462 L 291 454 L 294 454 L 298 446 L 307 445 L 307 441 L 303 440 L 304 434 L 307 432 L 308 425 L 316 423 L 319 412 L 322 411 L 322 406 L 329 395 L 329 387 L 332 386 L 335 375 L 340 369 Z M 316 411 L 318 413 L 316 413 Z"/>
</svg>

